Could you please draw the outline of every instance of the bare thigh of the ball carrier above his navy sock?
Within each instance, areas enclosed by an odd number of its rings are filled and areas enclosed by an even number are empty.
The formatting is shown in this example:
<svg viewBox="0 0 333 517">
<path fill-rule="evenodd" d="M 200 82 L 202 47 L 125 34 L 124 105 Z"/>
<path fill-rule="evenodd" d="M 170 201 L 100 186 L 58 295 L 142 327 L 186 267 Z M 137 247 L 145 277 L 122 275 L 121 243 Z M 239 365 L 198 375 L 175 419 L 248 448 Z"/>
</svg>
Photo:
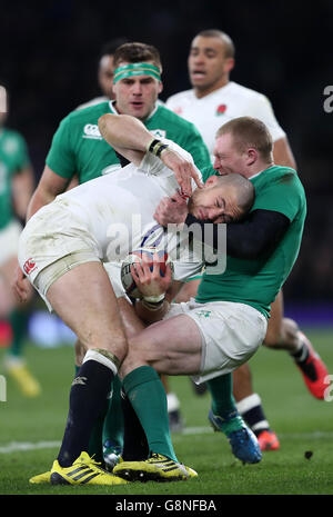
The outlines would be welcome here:
<svg viewBox="0 0 333 517">
<path fill-rule="evenodd" d="M 101 262 L 85 262 L 67 271 L 47 292 L 53 310 L 84 348 L 102 348 L 121 361 L 127 339 L 109 277 Z"/>
</svg>

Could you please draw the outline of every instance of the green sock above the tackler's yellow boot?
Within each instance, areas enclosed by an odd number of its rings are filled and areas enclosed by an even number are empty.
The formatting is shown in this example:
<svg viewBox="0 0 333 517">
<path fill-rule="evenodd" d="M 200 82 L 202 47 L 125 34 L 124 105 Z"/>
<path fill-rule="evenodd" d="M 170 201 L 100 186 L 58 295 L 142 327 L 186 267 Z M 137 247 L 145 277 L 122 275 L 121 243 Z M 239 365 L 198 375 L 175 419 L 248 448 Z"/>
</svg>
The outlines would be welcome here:
<svg viewBox="0 0 333 517">
<path fill-rule="evenodd" d="M 123 379 L 123 387 L 144 429 L 150 453 L 178 461 L 170 436 L 165 389 L 158 372 L 150 366 L 141 366 Z"/>
</svg>

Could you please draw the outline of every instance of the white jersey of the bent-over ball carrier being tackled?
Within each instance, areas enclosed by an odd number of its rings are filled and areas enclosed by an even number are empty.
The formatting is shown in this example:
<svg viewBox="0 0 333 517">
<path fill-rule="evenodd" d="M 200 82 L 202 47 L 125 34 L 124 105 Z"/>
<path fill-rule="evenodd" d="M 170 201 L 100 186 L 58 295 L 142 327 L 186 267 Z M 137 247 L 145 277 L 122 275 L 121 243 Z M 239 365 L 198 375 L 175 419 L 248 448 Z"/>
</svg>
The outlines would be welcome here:
<svg viewBox="0 0 333 517">
<path fill-rule="evenodd" d="M 163 140 L 193 162 L 186 151 Z M 199 170 L 198 175 L 201 178 Z M 186 248 L 180 250 L 180 232 L 167 232 L 153 219 L 160 200 L 172 196 L 178 188 L 172 170 L 147 152 L 139 167 L 130 163 L 112 175 L 92 179 L 57 196 L 53 202 L 41 208 L 28 221 L 26 230 L 36 217 L 44 218 L 51 222 L 42 228 L 43 233 L 52 231 L 56 237 L 70 237 L 65 240 L 67 252 L 77 251 L 75 238 L 80 237 L 83 241 L 92 241 L 98 257 L 105 262 L 122 261 L 130 251 L 140 247 L 164 249 L 174 261 L 174 278 L 183 280 L 198 271 L 201 264 L 199 260 L 193 264 Z M 188 242 L 186 233 L 182 237 Z M 175 262 L 178 259 L 182 264 Z"/>
</svg>

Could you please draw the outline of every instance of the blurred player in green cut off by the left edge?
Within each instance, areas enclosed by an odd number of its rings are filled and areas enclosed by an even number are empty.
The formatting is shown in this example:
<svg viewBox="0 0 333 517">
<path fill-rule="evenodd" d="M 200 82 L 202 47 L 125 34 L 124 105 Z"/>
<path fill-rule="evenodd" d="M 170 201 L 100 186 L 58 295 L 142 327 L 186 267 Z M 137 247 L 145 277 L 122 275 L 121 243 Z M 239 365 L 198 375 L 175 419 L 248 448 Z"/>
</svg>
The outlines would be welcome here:
<svg viewBox="0 0 333 517">
<path fill-rule="evenodd" d="M 40 385 L 29 371 L 23 357 L 27 341 L 29 305 L 14 300 L 11 281 L 18 266 L 18 240 L 33 190 L 33 171 L 23 137 L 4 127 L 7 92 L 1 87 L 0 111 L 0 318 L 11 327 L 11 342 L 3 367 L 27 397 L 40 394 Z M 32 296 L 32 291 L 31 291 Z"/>
</svg>

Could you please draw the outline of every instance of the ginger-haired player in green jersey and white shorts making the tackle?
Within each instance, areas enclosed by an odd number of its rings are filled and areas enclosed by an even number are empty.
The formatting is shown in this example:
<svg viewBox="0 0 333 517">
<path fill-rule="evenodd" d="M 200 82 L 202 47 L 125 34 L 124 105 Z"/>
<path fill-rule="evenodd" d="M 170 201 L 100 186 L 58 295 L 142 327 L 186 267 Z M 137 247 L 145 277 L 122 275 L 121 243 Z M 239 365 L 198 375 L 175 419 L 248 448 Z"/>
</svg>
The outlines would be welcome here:
<svg viewBox="0 0 333 517">
<path fill-rule="evenodd" d="M 236 410 L 232 371 L 263 341 L 271 304 L 296 260 L 306 215 L 305 193 L 295 170 L 275 166 L 272 147 L 268 128 L 258 119 L 241 117 L 221 127 L 214 148 L 215 168 L 222 175 L 241 173 L 255 188 L 250 213 L 228 225 L 225 271 L 204 272 L 195 302 L 173 304 L 171 308 L 165 300 L 153 308 L 135 304 L 145 320 L 155 320 L 158 314 L 164 318 L 129 340 L 120 370 L 150 453 L 153 444 L 163 443 L 168 421 L 165 402 L 153 396 L 158 372 L 192 375 L 198 382 L 206 381 L 212 396 L 212 426 L 226 435 L 236 457 L 248 463 L 261 459 L 258 440 Z M 211 173 L 215 171 L 211 169 Z M 222 208 L 223 203 L 221 198 Z M 202 228 L 203 242 L 219 251 L 219 225 L 210 221 L 208 208 L 202 203 L 196 217 L 189 213 L 190 209 L 181 196 L 165 198 L 155 219 L 163 226 L 185 223 L 189 228 L 195 222 Z M 229 222 L 229 216 L 222 212 L 219 221 Z M 147 267 L 137 270 L 132 272 L 137 285 L 148 296 L 151 275 Z M 161 288 L 154 292 L 164 292 L 164 279 L 154 281 Z M 143 461 L 123 461 L 113 473 L 130 480 L 162 479 L 165 468 L 163 456 L 151 455 Z"/>
</svg>

